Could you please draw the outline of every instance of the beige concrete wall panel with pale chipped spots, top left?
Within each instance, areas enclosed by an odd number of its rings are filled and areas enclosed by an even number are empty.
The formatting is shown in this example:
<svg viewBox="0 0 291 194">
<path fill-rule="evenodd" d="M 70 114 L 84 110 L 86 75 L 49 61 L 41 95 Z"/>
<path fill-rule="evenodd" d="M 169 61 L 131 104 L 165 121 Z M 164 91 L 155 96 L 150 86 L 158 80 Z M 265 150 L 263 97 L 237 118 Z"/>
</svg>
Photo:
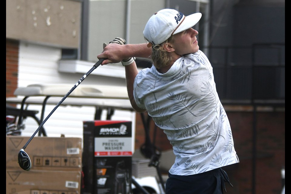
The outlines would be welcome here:
<svg viewBox="0 0 291 194">
<path fill-rule="evenodd" d="M 6 38 L 78 48 L 81 8 L 72 0 L 6 0 Z"/>
</svg>

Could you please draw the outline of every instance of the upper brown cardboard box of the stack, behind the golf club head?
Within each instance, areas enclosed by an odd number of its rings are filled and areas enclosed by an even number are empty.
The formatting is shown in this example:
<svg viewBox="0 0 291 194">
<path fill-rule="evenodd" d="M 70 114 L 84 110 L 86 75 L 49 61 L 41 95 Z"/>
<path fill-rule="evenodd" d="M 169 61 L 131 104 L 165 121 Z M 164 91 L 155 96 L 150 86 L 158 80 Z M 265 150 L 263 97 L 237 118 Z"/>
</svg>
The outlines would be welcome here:
<svg viewBox="0 0 291 194">
<path fill-rule="evenodd" d="M 6 136 L 6 169 L 21 169 L 18 153 L 30 137 Z M 33 137 L 24 150 L 32 170 L 82 171 L 82 139 Z"/>
</svg>

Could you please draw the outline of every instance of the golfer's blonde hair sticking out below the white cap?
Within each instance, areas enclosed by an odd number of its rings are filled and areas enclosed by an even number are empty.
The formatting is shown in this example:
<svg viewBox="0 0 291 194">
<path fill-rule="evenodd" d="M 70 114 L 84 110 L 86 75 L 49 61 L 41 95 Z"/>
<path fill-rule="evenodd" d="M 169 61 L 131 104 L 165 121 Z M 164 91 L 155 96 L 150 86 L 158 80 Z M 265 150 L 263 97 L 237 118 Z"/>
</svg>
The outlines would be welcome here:
<svg viewBox="0 0 291 194">
<path fill-rule="evenodd" d="M 163 43 L 161 43 L 159 45 L 155 45 L 155 46 L 152 47 L 151 58 L 152 58 L 153 65 L 157 69 L 165 67 L 165 66 L 169 65 L 170 62 L 172 62 L 172 56 L 170 55 L 169 52 L 167 52 L 164 49 L 164 44 L 167 44 L 168 42 L 171 42 L 173 40 L 172 37 L 173 36 L 168 38 L 165 42 L 163 42 Z"/>
</svg>

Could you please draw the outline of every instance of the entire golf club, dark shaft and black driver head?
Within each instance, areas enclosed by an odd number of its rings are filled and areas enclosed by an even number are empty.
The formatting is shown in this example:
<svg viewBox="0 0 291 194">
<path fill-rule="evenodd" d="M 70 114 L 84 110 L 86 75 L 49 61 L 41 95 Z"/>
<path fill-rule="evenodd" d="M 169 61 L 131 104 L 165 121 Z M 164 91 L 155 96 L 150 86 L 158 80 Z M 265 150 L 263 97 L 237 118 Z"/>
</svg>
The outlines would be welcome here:
<svg viewBox="0 0 291 194">
<path fill-rule="evenodd" d="M 59 107 L 59 105 L 62 104 L 62 102 L 74 91 L 74 89 L 90 74 L 94 69 L 96 69 L 105 59 L 100 59 L 98 62 L 93 65 L 93 67 L 72 87 L 72 89 L 69 90 L 69 92 L 62 98 L 62 100 L 55 106 L 55 108 L 52 110 L 52 112 L 49 113 L 49 115 L 44 119 L 44 121 L 39 125 L 39 127 L 36 129 L 34 134 L 31 136 L 31 138 L 28 139 L 27 143 L 20 149 L 18 153 L 18 164 L 19 166 L 26 171 L 29 171 L 31 169 L 31 161 L 28 156 L 28 154 L 24 151 L 26 146 L 29 144 L 29 142 L 32 140 L 32 138 L 35 136 L 35 134 L 39 131 L 39 129 L 43 126 L 43 124 L 49 119 L 49 117 L 52 115 L 53 112 Z"/>
</svg>

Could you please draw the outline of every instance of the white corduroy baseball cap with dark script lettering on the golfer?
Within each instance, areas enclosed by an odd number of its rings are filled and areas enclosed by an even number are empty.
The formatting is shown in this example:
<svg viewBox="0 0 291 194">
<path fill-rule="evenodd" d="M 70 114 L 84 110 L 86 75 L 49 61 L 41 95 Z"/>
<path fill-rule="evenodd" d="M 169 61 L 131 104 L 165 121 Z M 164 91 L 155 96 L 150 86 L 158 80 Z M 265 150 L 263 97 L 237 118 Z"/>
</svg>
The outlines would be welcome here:
<svg viewBox="0 0 291 194">
<path fill-rule="evenodd" d="M 201 16 L 201 13 L 185 16 L 175 9 L 162 9 L 156 12 L 149 18 L 143 31 L 143 36 L 149 41 L 148 47 L 159 45 L 171 35 L 193 27 Z"/>
</svg>

